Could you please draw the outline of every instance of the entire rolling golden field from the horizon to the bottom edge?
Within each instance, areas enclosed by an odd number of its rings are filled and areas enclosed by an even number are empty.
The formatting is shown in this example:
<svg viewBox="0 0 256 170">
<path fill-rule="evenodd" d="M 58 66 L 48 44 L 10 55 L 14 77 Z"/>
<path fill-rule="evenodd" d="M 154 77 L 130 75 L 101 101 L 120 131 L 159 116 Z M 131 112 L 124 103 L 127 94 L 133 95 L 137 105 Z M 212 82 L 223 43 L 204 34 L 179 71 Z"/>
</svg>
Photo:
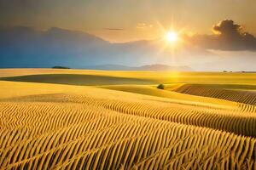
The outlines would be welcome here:
<svg viewBox="0 0 256 170">
<path fill-rule="evenodd" d="M 255 77 L 0 70 L 0 167 L 256 169 Z"/>
</svg>

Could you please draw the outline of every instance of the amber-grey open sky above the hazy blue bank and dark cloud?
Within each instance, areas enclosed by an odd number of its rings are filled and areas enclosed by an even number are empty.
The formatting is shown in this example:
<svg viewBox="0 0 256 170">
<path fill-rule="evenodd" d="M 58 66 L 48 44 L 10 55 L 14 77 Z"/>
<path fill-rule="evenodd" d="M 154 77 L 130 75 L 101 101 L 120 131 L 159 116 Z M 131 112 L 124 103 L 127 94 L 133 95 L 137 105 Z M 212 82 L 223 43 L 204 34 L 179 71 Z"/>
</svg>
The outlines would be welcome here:
<svg viewBox="0 0 256 170">
<path fill-rule="evenodd" d="M 255 0 L 0 0 L 0 25 L 60 27 L 129 42 L 168 30 L 211 34 L 229 19 L 256 35 L 255 8 Z"/>
</svg>

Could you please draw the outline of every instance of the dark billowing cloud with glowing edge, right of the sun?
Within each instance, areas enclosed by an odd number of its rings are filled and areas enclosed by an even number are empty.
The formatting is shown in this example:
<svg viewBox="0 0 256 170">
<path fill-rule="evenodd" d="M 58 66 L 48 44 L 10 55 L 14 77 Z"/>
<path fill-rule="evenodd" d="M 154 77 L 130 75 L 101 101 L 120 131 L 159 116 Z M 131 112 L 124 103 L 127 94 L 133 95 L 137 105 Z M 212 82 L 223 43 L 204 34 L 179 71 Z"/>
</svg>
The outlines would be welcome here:
<svg viewBox="0 0 256 170">
<path fill-rule="evenodd" d="M 212 31 L 215 34 L 195 35 L 189 41 L 209 49 L 256 51 L 256 37 L 243 31 L 243 27 L 235 24 L 233 20 L 222 20 L 212 27 Z"/>
</svg>

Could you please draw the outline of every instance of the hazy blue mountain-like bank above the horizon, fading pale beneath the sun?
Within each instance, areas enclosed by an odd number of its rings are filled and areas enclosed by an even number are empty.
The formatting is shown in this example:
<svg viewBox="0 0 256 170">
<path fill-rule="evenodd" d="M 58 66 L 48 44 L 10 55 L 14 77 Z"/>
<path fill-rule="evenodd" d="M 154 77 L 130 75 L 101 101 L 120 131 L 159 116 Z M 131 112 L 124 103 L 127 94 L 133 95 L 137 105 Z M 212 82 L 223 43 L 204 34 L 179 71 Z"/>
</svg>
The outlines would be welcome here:
<svg viewBox="0 0 256 170">
<path fill-rule="evenodd" d="M 191 44 L 175 50 L 166 46 L 168 44 L 160 39 L 112 43 L 83 31 L 55 27 L 46 31 L 25 26 L 1 27 L 0 67 L 49 68 L 61 65 L 71 68 L 146 71 L 223 69 L 216 65 L 221 60 L 217 53 Z M 229 70 L 229 66 L 225 70 Z"/>
</svg>

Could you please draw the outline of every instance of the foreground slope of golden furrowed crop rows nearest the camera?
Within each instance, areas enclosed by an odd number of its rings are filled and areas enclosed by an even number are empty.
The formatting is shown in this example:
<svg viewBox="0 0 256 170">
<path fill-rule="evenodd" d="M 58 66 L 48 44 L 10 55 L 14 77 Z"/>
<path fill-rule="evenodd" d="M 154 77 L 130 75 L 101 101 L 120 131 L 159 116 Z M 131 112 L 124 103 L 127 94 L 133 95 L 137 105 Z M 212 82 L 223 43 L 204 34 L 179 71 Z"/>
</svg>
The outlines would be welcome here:
<svg viewBox="0 0 256 170">
<path fill-rule="evenodd" d="M 74 104 L 55 103 L 54 107 L 53 104 L 44 102 L 31 102 L 26 105 L 2 103 L 1 108 L 4 108 L 4 113 L 9 112 L 9 109 L 13 111 L 9 116 L 12 121 L 15 120 L 13 116 L 19 117 L 21 124 L 23 118 L 26 124 L 29 120 L 35 119 L 34 121 L 41 122 L 42 126 L 38 126 L 41 130 L 29 128 L 30 130 L 26 130 L 26 135 L 11 133 L 17 131 L 15 126 L 22 132 L 23 127 L 18 123 L 12 124 L 13 127 L 8 129 L 1 127 L 4 132 L 9 131 L 0 134 L 0 143 L 4 146 L 0 156 L 1 167 L 7 169 L 82 167 L 93 169 L 246 167 L 253 169 L 255 167 L 256 141 L 253 138 L 206 127 L 130 116 L 104 109 L 102 107 L 104 103 L 96 104 L 99 105 L 98 108 L 92 104 L 74 106 Z M 70 110 L 71 107 L 73 110 Z M 26 108 L 29 109 L 26 110 Z M 44 108 L 48 114 L 38 111 Z M 94 108 L 93 111 L 91 108 Z M 136 108 L 140 110 L 143 107 L 136 106 Z M 128 108 L 124 109 L 126 110 L 123 112 L 129 112 Z M 152 111 L 155 110 L 152 109 Z M 80 114 L 81 112 L 83 114 Z M 62 116 L 56 116 L 59 114 Z M 53 125 L 52 129 L 55 131 L 49 132 L 43 124 L 53 123 L 54 120 L 56 124 L 61 124 L 59 121 L 69 122 L 69 124 Z M 34 124 L 28 123 L 26 126 L 33 127 Z M 42 133 L 37 136 L 33 131 Z M 12 147 L 5 144 L 12 143 L 14 138 L 16 140 L 21 138 L 22 142 Z M 203 151 L 199 154 L 198 150 Z M 195 159 L 191 159 L 193 157 Z"/>
</svg>

